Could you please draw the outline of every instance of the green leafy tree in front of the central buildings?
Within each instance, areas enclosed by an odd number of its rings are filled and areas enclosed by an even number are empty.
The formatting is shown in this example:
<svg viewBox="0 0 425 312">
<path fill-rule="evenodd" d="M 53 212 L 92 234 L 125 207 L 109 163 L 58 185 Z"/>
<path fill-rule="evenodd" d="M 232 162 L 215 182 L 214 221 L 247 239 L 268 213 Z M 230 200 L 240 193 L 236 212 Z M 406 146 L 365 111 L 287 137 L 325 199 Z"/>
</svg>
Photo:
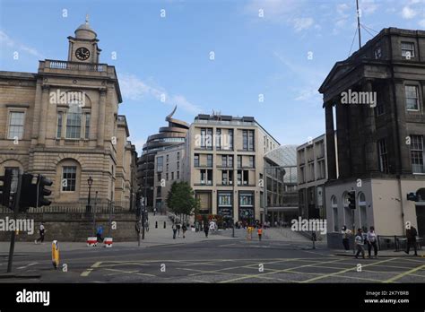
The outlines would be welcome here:
<svg viewBox="0 0 425 312">
<path fill-rule="evenodd" d="M 167 195 L 167 205 L 176 215 L 190 215 L 199 210 L 199 200 L 187 182 L 174 182 Z"/>
</svg>

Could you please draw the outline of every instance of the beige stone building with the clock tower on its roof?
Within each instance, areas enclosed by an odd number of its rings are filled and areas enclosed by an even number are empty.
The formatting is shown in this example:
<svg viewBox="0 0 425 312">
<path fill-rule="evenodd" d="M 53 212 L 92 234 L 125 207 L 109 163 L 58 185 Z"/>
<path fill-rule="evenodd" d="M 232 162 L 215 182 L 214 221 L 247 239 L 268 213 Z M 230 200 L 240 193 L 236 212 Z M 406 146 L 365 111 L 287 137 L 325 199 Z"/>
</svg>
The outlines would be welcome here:
<svg viewBox="0 0 425 312">
<path fill-rule="evenodd" d="M 91 177 L 92 200 L 97 191 L 99 204 L 129 208 L 136 155 L 117 113 L 115 67 L 99 63 L 88 22 L 68 40 L 66 61 L 40 61 L 35 74 L 0 72 L 0 170 L 50 178 L 57 206 L 85 205 Z"/>
</svg>

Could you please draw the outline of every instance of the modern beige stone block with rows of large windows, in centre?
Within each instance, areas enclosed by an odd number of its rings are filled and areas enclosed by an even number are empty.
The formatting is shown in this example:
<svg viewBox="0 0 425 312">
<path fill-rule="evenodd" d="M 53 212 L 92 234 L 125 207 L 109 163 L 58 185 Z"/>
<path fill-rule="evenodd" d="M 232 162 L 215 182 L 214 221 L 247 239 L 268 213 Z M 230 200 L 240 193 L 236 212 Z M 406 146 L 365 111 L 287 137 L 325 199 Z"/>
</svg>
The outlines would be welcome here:
<svg viewBox="0 0 425 312">
<path fill-rule="evenodd" d="M 278 146 L 254 117 L 195 117 L 183 171 L 201 213 L 264 221 L 264 156 Z"/>
</svg>

